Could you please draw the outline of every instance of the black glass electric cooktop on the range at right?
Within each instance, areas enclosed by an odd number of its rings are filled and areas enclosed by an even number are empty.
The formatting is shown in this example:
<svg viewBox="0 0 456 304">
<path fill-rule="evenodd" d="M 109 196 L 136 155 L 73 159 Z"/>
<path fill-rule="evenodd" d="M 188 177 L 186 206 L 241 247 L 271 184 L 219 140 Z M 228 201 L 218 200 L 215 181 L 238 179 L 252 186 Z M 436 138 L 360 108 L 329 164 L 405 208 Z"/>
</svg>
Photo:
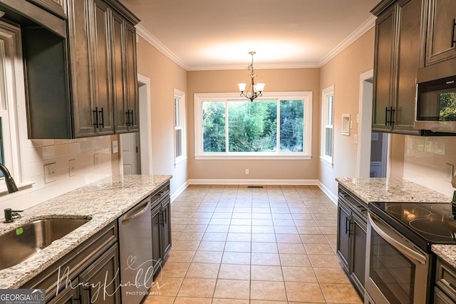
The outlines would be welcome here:
<svg viewBox="0 0 456 304">
<path fill-rule="evenodd" d="M 369 210 L 428 253 L 432 244 L 456 244 L 450 203 L 369 203 Z"/>
</svg>

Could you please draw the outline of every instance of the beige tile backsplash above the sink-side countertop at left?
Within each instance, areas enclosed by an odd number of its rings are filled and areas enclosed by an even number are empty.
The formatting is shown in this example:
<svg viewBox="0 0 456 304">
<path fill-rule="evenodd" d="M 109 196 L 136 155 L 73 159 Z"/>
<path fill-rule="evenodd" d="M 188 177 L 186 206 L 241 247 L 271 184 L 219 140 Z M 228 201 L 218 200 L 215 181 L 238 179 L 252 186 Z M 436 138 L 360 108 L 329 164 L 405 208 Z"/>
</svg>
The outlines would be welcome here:
<svg viewBox="0 0 456 304">
<path fill-rule="evenodd" d="M 27 140 L 25 153 L 22 182 L 33 184 L 19 192 L 0 196 L 0 218 L 5 208 L 26 209 L 95 182 L 112 172 L 110 136 L 78 140 Z M 74 164 L 71 176 L 70 160 Z M 56 164 L 56 180 L 46 183 L 44 166 L 52 163 Z M 19 184 L 18 177 L 14 178 Z"/>
</svg>

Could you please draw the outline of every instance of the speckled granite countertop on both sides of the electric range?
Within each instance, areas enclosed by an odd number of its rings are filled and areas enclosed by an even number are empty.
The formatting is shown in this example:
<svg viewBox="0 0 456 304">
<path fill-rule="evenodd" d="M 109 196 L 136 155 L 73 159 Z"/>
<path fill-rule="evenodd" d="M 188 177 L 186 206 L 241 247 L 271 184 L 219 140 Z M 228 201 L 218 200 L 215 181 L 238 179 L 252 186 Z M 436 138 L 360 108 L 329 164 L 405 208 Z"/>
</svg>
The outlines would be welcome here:
<svg viewBox="0 0 456 304">
<path fill-rule="evenodd" d="M 452 198 L 406 179 L 346 178 L 336 181 L 367 203 L 381 202 L 450 202 Z M 456 268 L 456 245 L 432 245 L 432 252 Z"/>
</svg>

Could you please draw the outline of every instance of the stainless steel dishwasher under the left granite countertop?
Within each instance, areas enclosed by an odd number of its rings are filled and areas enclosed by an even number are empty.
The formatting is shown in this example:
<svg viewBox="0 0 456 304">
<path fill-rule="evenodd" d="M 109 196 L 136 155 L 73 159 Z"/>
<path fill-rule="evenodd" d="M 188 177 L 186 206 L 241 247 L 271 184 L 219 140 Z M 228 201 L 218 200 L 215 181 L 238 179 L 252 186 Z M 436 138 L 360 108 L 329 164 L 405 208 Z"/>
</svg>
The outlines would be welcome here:
<svg viewBox="0 0 456 304">
<path fill-rule="evenodd" d="M 153 283 L 150 197 L 120 216 L 120 280 L 122 303 L 140 303 Z"/>
</svg>

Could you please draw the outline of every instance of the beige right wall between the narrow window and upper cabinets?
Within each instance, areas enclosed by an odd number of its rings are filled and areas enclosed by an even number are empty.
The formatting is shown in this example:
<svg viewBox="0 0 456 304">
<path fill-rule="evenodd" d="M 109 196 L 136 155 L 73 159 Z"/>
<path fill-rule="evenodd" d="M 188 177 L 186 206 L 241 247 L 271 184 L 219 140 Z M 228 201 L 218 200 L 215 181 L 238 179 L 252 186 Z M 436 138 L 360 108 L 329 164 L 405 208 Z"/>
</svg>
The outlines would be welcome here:
<svg viewBox="0 0 456 304">
<path fill-rule="evenodd" d="M 320 86 L 334 85 L 333 166 L 320 162 L 318 180 L 333 200 L 337 197 L 336 177 L 356 177 L 358 135 L 356 115 L 360 112 L 360 75 L 373 68 L 375 31 L 371 28 L 331 61 L 323 65 Z M 342 115 L 350 114 L 350 135 L 341 135 Z"/>
</svg>

